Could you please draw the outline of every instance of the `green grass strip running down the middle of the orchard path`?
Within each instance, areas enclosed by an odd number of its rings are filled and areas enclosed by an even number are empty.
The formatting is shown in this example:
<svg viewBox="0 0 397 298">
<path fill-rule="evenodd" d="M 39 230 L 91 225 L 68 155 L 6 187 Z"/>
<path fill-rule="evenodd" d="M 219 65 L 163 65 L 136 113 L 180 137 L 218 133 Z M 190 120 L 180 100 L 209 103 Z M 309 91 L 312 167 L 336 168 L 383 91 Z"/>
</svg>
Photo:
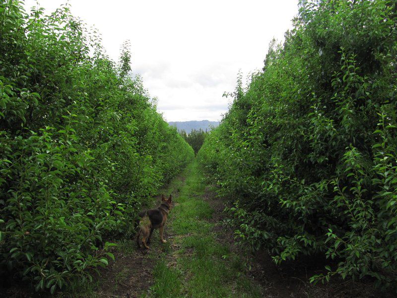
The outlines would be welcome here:
<svg viewBox="0 0 397 298">
<path fill-rule="evenodd" d="M 219 243 L 212 232 L 214 224 L 208 220 L 213 210 L 203 199 L 206 185 L 202 181 L 195 160 L 166 190 L 177 194 L 166 227 L 177 249 L 168 246 L 156 264 L 148 296 L 260 298 L 261 289 L 246 277 L 245 258 Z"/>
</svg>

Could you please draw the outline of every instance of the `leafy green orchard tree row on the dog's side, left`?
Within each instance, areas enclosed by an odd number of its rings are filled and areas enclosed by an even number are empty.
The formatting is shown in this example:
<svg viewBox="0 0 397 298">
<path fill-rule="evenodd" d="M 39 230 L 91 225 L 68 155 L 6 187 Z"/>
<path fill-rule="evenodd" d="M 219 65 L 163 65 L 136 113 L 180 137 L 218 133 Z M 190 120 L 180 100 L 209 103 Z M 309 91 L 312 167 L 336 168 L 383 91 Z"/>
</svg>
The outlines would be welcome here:
<svg viewBox="0 0 397 298">
<path fill-rule="evenodd" d="M 54 292 L 107 265 L 105 239 L 194 157 L 128 45 L 111 62 L 68 7 L 0 1 L 0 271 Z M 7 273 L 8 272 L 8 273 Z M 3 276 L 1 277 L 3 278 Z"/>
</svg>

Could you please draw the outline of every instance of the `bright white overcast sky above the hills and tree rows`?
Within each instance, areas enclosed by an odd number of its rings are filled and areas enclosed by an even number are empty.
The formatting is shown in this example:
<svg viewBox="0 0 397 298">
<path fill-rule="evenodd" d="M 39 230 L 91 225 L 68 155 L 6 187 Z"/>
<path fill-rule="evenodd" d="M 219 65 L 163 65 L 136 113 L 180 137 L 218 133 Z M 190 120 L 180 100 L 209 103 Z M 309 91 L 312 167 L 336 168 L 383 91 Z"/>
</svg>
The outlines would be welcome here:
<svg viewBox="0 0 397 298">
<path fill-rule="evenodd" d="M 262 69 L 269 42 L 283 40 L 298 0 L 69 0 L 71 12 L 102 35 L 109 57 L 131 41 L 140 74 L 166 121 L 219 121 L 223 97 Z M 39 0 L 47 13 L 66 0 Z M 26 10 L 35 0 L 25 0 Z"/>
</svg>

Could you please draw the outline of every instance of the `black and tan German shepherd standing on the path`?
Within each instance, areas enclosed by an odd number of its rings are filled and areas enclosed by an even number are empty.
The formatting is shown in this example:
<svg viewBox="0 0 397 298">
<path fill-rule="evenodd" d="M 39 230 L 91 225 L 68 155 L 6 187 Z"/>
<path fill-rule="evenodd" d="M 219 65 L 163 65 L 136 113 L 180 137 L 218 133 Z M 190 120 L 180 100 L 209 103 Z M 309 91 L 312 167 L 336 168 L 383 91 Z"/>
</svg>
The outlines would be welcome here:
<svg viewBox="0 0 397 298">
<path fill-rule="evenodd" d="M 172 195 L 168 199 L 161 196 L 161 205 L 156 209 L 149 209 L 146 211 L 139 212 L 139 224 L 138 232 L 136 233 L 136 243 L 140 248 L 140 235 L 142 234 L 142 243 L 146 249 L 149 249 L 147 243 L 150 242 L 150 237 L 152 236 L 153 230 L 155 228 L 160 229 L 160 240 L 161 242 L 167 242 L 163 238 L 164 225 L 167 222 L 168 214 L 171 210 Z"/>
</svg>

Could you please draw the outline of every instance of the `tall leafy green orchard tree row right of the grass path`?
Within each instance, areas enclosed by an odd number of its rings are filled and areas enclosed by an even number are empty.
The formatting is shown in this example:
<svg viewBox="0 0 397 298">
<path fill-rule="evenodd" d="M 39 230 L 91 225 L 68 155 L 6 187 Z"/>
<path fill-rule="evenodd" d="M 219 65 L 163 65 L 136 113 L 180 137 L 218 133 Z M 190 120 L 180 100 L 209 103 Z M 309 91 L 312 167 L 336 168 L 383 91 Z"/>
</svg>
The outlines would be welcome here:
<svg viewBox="0 0 397 298">
<path fill-rule="evenodd" d="M 238 236 L 276 263 L 335 259 L 327 280 L 396 285 L 396 61 L 395 1 L 300 2 L 198 154 Z"/>
</svg>

